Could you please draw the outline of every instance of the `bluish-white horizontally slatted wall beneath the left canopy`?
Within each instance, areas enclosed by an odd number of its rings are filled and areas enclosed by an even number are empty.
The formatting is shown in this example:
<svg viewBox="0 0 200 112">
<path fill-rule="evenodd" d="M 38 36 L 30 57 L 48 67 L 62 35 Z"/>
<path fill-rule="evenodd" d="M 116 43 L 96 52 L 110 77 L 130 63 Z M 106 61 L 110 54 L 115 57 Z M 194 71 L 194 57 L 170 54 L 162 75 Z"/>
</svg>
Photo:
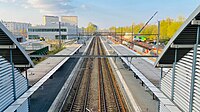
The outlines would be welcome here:
<svg viewBox="0 0 200 112">
<path fill-rule="evenodd" d="M 16 98 L 19 98 L 27 89 L 27 79 L 15 68 L 15 89 L 12 75 L 12 65 L 0 56 L 0 112 L 11 105 Z M 14 95 L 15 94 L 15 95 Z M 28 102 L 22 103 L 18 112 L 28 112 Z"/>
</svg>

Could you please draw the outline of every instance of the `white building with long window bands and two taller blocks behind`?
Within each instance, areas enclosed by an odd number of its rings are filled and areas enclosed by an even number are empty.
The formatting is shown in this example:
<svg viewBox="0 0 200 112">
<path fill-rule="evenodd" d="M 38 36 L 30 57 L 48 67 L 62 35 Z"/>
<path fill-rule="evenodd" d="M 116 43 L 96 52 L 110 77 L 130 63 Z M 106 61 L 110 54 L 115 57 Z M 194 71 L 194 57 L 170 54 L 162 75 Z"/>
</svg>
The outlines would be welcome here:
<svg viewBox="0 0 200 112">
<path fill-rule="evenodd" d="M 77 32 L 77 17 L 63 16 L 61 18 L 61 39 L 69 39 L 76 37 Z M 34 26 L 28 28 L 28 39 L 59 39 L 59 17 L 58 16 L 44 16 L 44 25 Z M 72 21 L 74 24 L 70 24 Z M 76 23 L 76 24 L 75 24 Z"/>
</svg>

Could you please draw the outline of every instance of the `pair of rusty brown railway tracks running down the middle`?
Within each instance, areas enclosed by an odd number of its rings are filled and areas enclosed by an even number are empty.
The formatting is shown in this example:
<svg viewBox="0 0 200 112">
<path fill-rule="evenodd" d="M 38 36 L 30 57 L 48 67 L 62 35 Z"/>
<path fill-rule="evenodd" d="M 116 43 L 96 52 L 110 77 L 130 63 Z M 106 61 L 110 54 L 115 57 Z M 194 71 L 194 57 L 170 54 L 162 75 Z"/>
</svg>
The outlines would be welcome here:
<svg viewBox="0 0 200 112">
<path fill-rule="evenodd" d="M 86 54 L 105 54 L 98 37 L 92 40 Z M 64 112 L 128 111 L 106 58 L 84 59 L 65 102 Z"/>
</svg>

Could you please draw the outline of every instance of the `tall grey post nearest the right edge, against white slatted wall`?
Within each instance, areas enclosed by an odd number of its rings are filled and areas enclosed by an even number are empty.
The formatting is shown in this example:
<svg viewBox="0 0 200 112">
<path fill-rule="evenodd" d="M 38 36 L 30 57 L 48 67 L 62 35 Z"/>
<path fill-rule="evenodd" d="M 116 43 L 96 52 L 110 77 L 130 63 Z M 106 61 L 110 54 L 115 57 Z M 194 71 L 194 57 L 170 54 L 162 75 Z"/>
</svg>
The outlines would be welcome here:
<svg viewBox="0 0 200 112">
<path fill-rule="evenodd" d="M 189 112 L 192 112 L 192 107 L 193 107 L 194 81 L 195 81 L 196 62 L 197 62 L 197 48 L 198 48 L 199 38 L 200 38 L 199 33 L 200 33 L 200 26 L 198 26 L 198 29 L 197 29 L 197 38 L 196 38 L 196 44 L 194 46 L 194 53 L 193 53 L 193 64 L 192 64 L 192 75 L 191 75 Z"/>
</svg>

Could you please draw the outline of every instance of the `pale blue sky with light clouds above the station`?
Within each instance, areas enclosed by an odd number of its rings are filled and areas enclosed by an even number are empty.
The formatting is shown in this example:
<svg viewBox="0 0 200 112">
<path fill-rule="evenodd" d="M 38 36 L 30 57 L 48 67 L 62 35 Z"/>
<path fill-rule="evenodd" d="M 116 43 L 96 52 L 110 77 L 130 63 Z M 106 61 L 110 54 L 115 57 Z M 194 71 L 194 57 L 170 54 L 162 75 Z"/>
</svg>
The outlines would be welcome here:
<svg viewBox="0 0 200 112">
<path fill-rule="evenodd" d="M 100 28 L 145 23 L 167 17 L 187 18 L 200 0 L 0 0 L 0 20 L 42 24 L 43 15 L 78 16 L 79 26 L 89 22 Z"/>
</svg>

